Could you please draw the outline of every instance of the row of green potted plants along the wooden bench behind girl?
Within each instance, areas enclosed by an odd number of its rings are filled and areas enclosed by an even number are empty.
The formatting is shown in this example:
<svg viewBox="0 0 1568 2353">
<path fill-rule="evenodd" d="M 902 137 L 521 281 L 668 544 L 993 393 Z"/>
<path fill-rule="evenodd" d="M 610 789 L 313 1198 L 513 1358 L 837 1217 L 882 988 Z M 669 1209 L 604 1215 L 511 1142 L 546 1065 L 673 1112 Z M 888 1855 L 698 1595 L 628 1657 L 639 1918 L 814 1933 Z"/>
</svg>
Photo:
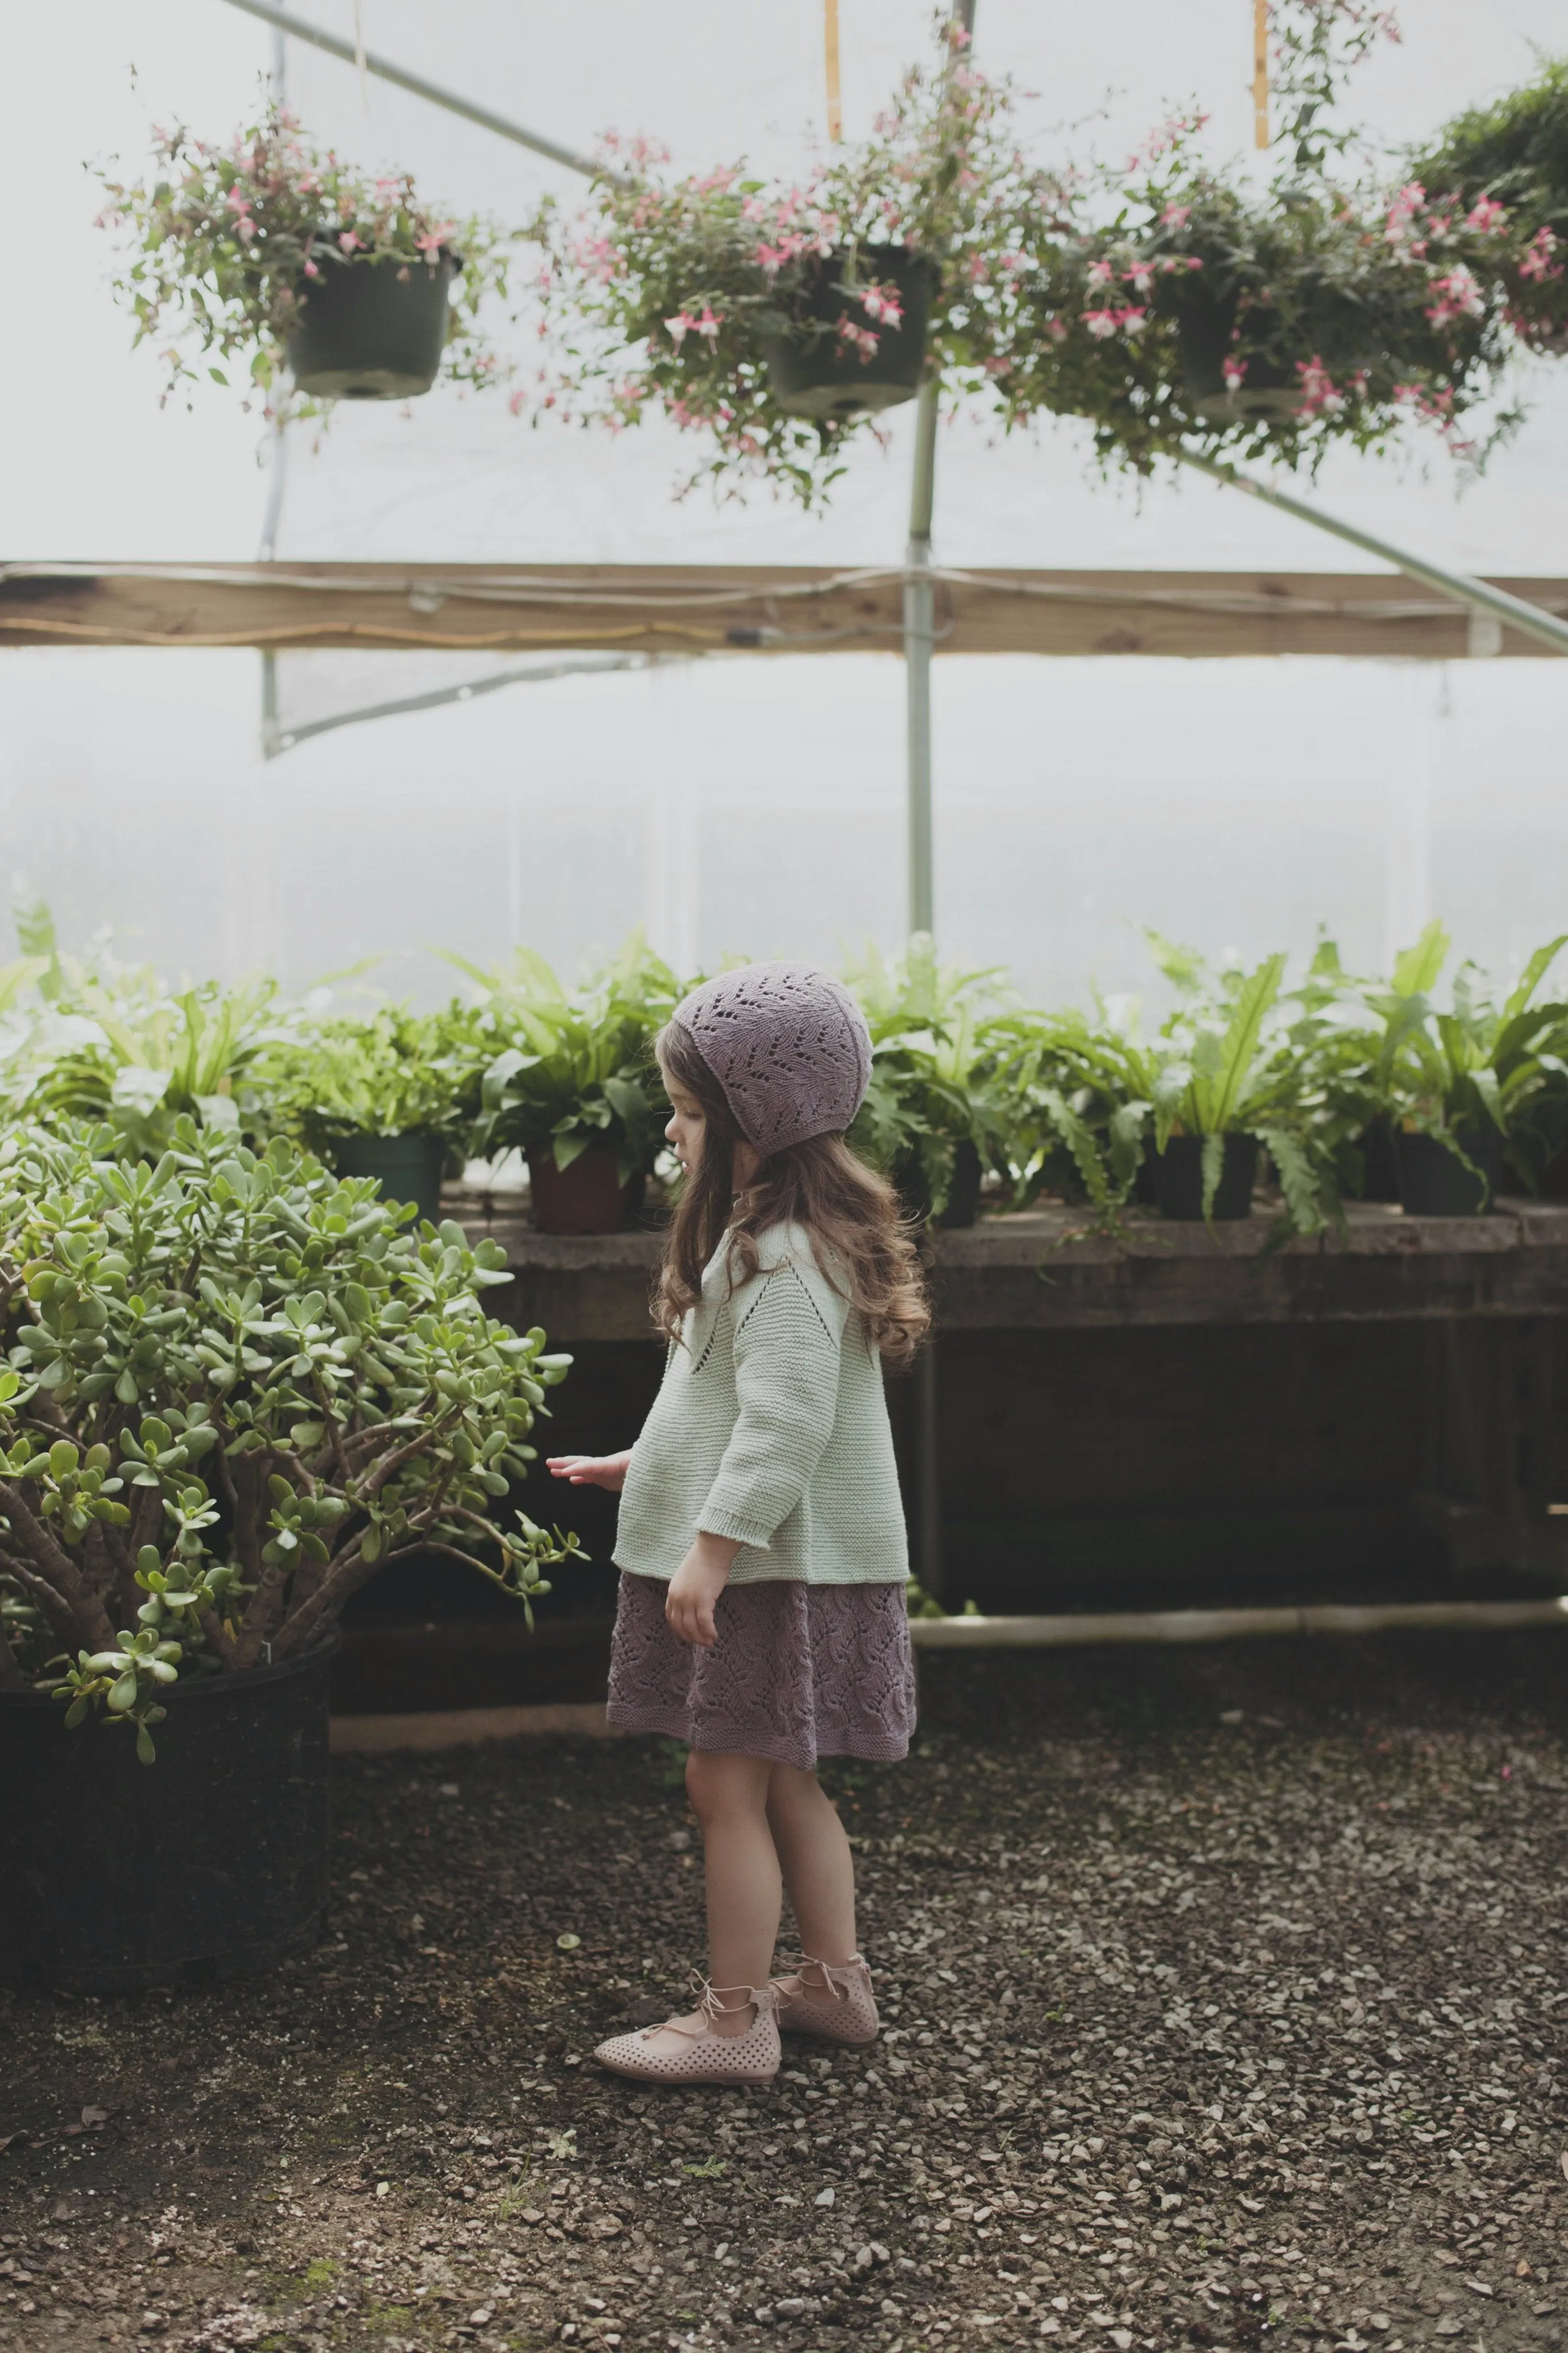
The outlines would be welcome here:
<svg viewBox="0 0 1568 2353">
<path fill-rule="evenodd" d="M 569 988 L 534 951 L 416 1014 L 284 1002 L 266 981 L 167 993 L 106 951 L 56 953 L 24 920 L 0 1085 L 14 1120 L 106 1122 L 125 1160 L 158 1160 L 174 1122 L 263 1151 L 301 1146 L 341 1176 L 440 1221 L 442 1176 L 527 1165 L 555 1233 L 658 1217 L 675 1179 L 651 1052 L 684 981 L 642 936 Z M 1312 1233 L 1354 1198 L 1474 1212 L 1540 1188 L 1568 1144 L 1568 1012 L 1547 993 L 1561 941 L 1497 995 L 1460 965 L 1439 1002 L 1448 934 L 1427 932 L 1387 979 L 1321 941 L 1298 986 L 1286 958 L 1211 969 L 1150 934 L 1173 991 L 1145 1035 L 1131 1002 L 1027 1007 L 1001 972 L 938 965 L 929 941 L 846 969 L 872 1031 L 872 1082 L 851 1141 L 917 1219 L 973 1224 L 1039 1198 L 1100 1221 L 1251 1214 Z M 40 953 L 42 951 L 42 953 Z"/>
</svg>

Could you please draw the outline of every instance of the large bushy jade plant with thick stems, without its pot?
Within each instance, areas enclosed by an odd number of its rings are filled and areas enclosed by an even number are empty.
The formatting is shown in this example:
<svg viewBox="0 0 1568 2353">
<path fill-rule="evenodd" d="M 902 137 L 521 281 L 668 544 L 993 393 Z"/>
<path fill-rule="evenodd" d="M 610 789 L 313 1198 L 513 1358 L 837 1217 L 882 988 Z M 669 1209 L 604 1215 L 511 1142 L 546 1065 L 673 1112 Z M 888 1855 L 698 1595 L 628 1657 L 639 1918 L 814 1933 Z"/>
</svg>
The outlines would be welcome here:
<svg viewBox="0 0 1568 2353">
<path fill-rule="evenodd" d="M 531 1621 L 576 1537 L 510 1497 L 569 1358 L 484 1313 L 505 1280 L 282 1139 L 7 1136 L 0 1685 L 150 1762 L 174 1682 L 301 1657 L 388 1562 L 458 1560 Z"/>
</svg>

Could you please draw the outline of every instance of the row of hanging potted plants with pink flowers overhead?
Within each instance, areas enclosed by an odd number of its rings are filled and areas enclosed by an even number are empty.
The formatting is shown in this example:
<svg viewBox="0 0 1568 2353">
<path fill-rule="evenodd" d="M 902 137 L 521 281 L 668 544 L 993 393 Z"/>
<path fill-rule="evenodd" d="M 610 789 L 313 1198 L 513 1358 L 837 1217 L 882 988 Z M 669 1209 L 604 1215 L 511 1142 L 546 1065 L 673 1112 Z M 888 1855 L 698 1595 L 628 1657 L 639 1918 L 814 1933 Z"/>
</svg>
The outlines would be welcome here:
<svg viewBox="0 0 1568 2353">
<path fill-rule="evenodd" d="M 263 108 L 228 146 L 158 132 L 150 174 L 106 174 L 103 224 L 172 386 L 240 365 L 284 407 L 404 398 L 444 369 L 534 419 L 661 414 L 698 452 L 689 482 L 726 492 L 818 504 L 851 438 L 926 379 L 1006 426 L 1084 416 L 1133 471 L 1185 447 L 1314 466 L 1406 419 L 1481 461 L 1512 421 L 1512 355 L 1568 339 L 1568 66 L 1389 176 L 1340 113 L 1387 12 L 1281 0 L 1272 19 L 1265 191 L 1204 160 L 1194 115 L 1126 165 L 1032 160 L 1009 82 L 945 26 L 872 139 L 788 184 L 743 160 L 670 179 L 649 141 L 609 139 L 585 207 L 501 228 L 440 219 Z M 503 353 L 512 280 L 527 379 Z"/>
</svg>

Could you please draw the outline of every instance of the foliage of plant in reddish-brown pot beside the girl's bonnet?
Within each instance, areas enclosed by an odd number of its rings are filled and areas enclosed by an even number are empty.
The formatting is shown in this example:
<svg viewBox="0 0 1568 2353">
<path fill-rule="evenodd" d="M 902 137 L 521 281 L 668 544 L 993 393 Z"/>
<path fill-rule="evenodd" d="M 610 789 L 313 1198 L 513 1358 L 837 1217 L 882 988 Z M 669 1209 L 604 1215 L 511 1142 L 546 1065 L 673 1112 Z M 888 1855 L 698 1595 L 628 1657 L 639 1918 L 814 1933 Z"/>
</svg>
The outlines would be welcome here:
<svg viewBox="0 0 1568 2353">
<path fill-rule="evenodd" d="M 531 948 L 515 948 L 494 972 L 461 955 L 449 962 L 482 988 L 477 1012 L 491 1056 L 475 1153 L 550 1153 L 557 1169 L 569 1169 L 590 1144 L 614 1144 L 621 1184 L 649 1174 L 670 1118 L 654 1038 L 682 984 L 642 932 L 576 993 Z"/>
</svg>

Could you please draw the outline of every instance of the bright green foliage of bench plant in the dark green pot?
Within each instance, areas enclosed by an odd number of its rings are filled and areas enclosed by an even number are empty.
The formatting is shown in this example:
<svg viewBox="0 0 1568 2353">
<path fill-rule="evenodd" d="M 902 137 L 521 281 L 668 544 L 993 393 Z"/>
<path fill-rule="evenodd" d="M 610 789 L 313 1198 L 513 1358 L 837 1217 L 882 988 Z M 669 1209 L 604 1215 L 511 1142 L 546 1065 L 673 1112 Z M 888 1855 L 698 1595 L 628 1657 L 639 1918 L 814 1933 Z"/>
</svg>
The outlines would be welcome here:
<svg viewBox="0 0 1568 2353">
<path fill-rule="evenodd" d="M 463 1005 L 414 1014 L 381 1005 L 320 1021 L 275 1049 L 261 1080 L 275 1127 L 331 1153 L 346 1136 L 442 1136 L 465 1146 L 489 1042 Z"/>
</svg>

